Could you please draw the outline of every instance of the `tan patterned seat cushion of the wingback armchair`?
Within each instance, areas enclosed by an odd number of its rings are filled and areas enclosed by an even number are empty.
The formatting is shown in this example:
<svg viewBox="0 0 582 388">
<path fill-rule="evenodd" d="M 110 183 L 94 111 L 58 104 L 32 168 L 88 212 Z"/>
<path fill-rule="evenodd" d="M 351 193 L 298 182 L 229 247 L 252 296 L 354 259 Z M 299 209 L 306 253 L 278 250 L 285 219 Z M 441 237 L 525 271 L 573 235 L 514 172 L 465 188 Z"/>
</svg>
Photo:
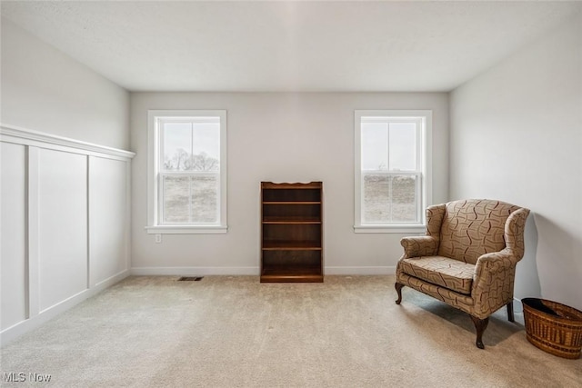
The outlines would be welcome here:
<svg viewBox="0 0 582 388">
<path fill-rule="evenodd" d="M 409 257 L 400 261 L 401 271 L 426 282 L 471 294 L 475 265 L 445 256 Z"/>
</svg>

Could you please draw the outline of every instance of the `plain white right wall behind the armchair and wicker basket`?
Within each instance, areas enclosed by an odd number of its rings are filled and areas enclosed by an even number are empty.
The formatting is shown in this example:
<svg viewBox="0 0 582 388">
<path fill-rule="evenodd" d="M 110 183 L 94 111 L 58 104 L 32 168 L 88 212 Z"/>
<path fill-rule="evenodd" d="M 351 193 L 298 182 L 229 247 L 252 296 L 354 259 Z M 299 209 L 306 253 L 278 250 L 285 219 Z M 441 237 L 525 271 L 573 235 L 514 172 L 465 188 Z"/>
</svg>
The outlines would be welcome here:
<svg viewBox="0 0 582 388">
<path fill-rule="evenodd" d="M 582 15 L 451 94 L 450 195 L 531 209 L 516 297 L 582 309 Z"/>
</svg>

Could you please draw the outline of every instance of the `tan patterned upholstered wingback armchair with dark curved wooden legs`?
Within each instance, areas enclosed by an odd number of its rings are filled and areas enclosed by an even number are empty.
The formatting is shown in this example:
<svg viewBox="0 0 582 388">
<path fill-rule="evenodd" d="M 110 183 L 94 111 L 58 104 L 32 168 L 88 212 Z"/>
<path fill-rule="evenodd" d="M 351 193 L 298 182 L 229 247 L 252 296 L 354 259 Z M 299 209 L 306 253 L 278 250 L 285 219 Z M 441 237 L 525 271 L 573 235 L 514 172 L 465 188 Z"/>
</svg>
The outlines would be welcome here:
<svg viewBox="0 0 582 388">
<path fill-rule="evenodd" d="M 426 209 L 426 235 L 400 241 L 396 265 L 397 304 L 402 287 L 433 296 L 468 313 L 477 330 L 477 347 L 489 315 L 507 305 L 513 317 L 516 264 L 524 255 L 529 210 L 492 200 L 464 200 Z"/>
</svg>

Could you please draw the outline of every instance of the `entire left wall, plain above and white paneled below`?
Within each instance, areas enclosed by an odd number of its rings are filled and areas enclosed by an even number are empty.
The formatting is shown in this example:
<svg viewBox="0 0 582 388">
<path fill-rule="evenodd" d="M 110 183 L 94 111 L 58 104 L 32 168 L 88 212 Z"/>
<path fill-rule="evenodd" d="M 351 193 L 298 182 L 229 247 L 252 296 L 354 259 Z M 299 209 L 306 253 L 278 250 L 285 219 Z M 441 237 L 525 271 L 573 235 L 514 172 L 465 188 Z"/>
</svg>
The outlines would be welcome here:
<svg viewBox="0 0 582 388">
<path fill-rule="evenodd" d="M 129 93 L 2 19 L 0 335 L 129 274 Z"/>
</svg>

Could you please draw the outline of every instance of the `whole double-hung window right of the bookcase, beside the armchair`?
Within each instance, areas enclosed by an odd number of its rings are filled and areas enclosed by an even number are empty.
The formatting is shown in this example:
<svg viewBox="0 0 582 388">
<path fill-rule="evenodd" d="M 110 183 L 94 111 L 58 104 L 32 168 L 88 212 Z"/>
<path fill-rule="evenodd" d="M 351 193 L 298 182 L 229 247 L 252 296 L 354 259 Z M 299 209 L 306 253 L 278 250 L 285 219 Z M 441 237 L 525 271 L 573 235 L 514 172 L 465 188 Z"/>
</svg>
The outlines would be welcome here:
<svg viewBox="0 0 582 388">
<path fill-rule="evenodd" d="M 356 111 L 356 233 L 424 231 L 431 111 Z"/>
</svg>

